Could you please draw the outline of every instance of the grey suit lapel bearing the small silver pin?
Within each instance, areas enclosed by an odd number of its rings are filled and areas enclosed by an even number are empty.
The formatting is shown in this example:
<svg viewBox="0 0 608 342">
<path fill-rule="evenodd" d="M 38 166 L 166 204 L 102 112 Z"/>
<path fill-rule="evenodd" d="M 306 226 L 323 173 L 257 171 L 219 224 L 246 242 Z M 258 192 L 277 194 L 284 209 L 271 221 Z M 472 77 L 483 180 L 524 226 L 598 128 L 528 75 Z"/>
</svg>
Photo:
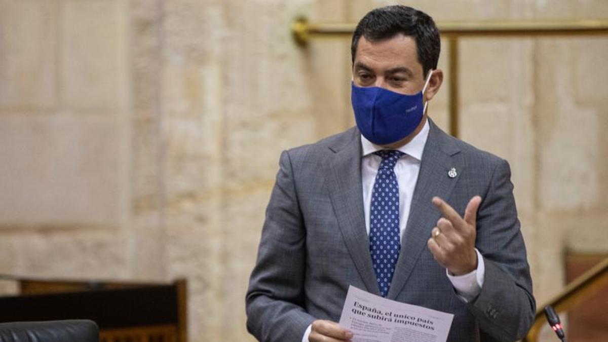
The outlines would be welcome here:
<svg viewBox="0 0 608 342">
<path fill-rule="evenodd" d="M 430 121 L 430 119 L 429 119 Z M 387 298 L 395 299 L 406 284 L 430 231 L 437 224 L 440 212 L 431 203 L 434 196 L 447 200 L 463 172 L 464 162 L 451 139 L 430 121 L 430 131 L 414 189 L 406 231 L 401 239 L 401 251 Z M 458 175 L 450 178 L 447 172 L 454 167 Z"/>
</svg>

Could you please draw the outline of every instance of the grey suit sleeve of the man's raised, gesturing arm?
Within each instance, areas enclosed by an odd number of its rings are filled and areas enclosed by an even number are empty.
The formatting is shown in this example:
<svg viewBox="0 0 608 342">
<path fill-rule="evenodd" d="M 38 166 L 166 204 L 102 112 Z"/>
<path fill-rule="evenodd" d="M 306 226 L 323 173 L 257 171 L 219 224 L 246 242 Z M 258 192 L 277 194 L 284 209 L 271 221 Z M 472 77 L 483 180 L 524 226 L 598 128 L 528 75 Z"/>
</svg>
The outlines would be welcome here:
<svg viewBox="0 0 608 342">
<path fill-rule="evenodd" d="M 478 209 L 475 246 L 483 256 L 485 276 L 479 295 L 467 304 L 469 310 L 483 335 L 499 341 L 520 340 L 533 323 L 536 304 L 511 170 L 504 160 L 494 170 Z"/>
</svg>

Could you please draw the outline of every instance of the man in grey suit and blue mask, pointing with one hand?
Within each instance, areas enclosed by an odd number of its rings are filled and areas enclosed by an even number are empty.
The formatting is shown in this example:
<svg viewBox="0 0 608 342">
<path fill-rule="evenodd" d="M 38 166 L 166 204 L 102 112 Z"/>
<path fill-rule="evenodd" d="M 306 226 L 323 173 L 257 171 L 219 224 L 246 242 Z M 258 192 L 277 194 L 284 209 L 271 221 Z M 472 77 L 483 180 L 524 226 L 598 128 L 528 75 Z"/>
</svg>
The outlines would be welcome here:
<svg viewBox="0 0 608 342">
<path fill-rule="evenodd" d="M 443 133 L 440 38 L 405 6 L 358 24 L 357 127 L 285 151 L 247 291 L 261 341 L 347 341 L 349 285 L 454 314 L 448 341 L 515 341 L 535 310 L 508 163 Z"/>
</svg>

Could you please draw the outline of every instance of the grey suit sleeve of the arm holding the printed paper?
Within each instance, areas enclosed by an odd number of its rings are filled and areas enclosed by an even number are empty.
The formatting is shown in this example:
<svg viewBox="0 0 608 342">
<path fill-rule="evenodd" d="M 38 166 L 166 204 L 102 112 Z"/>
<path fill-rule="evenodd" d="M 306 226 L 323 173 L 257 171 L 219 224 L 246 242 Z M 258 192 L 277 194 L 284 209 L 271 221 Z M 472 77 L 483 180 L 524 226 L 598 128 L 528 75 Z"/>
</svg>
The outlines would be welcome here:
<svg viewBox="0 0 608 342">
<path fill-rule="evenodd" d="M 264 342 L 301 341 L 314 321 L 303 309 L 306 232 L 288 152 L 279 164 L 246 295 L 247 330 Z"/>
</svg>

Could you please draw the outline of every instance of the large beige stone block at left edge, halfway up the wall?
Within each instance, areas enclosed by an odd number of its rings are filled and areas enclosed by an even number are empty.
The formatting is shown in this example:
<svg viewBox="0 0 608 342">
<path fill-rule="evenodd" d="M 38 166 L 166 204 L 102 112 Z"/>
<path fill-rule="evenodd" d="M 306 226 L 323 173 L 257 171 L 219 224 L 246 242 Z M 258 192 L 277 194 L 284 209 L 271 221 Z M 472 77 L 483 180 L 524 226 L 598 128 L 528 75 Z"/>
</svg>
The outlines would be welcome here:
<svg viewBox="0 0 608 342">
<path fill-rule="evenodd" d="M 120 221 L 117 120 L 71 114 L 0 117 L 2 225 Z"/>
</svg>

